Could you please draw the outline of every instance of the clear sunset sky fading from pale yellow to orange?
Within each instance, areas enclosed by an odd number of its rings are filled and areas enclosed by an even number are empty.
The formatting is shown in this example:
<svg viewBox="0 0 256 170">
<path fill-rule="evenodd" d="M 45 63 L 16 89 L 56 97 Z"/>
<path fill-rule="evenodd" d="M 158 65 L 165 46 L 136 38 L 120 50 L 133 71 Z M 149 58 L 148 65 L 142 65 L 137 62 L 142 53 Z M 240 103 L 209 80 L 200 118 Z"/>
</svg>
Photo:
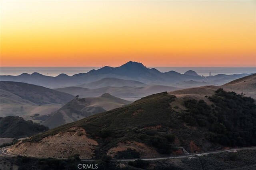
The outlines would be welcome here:
<svg viewBox="0 0 256 170">
<path fill-rule="evenodd" d="M 1 1 L 1 66 L 256 66 L 256 1 Z"/>
</svg>

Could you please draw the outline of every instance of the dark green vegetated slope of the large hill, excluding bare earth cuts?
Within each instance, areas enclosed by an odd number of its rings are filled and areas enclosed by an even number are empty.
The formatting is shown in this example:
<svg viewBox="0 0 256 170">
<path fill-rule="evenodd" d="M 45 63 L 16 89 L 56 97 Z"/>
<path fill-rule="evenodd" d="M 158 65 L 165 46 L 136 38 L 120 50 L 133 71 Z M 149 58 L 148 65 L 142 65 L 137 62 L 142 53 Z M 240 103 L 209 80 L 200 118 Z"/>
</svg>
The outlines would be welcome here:
<svg viewBox="0 0 256 170">
<path fill-rule="evenodd" d="M 222 147 L 256 145 L 256 105 L 251 98 L 234 92 L 216 90 L 204 100 L 184 100 L 186 110 L 176 112 L 175 96 L 167 92 L 154 94 L 134 103 L 62 125 L 24 142 L 40 142 L 44 137 L 82 127 L 87 136 L 98 142 L 95 157 L 117 146 L 130 146 L 130 141 L 155 149 L 162 155 L 203 152 Z M 153 151 L 152 151 L 153 152 Z M 115 158 L 142 156 L 139 150 L 117 152 Z"/>
</svg>

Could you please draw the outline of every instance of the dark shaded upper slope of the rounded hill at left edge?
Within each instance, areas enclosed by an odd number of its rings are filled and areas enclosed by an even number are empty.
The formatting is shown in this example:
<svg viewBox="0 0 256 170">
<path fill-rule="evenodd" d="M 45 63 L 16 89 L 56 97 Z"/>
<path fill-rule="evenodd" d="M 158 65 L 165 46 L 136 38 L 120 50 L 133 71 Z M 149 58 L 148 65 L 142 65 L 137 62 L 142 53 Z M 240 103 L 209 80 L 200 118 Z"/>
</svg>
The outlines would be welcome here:
<svg viewBox="0 0 256 170">
<path fill-rule="evenodd" d="M 42 86 L 36 86 L 33 84 L 21 83 L 21 82 L 0 82 L 1 97 L 9 98 L 10 100 L 17 100 L 17 102 L 27 103 L 27 104 L 66 104 L 74 96 L 45 88 Z M 7 92 L 9 92 L 7 94 Z M 18 98 L 18 97 L 19 98 Z"/>
</svg>

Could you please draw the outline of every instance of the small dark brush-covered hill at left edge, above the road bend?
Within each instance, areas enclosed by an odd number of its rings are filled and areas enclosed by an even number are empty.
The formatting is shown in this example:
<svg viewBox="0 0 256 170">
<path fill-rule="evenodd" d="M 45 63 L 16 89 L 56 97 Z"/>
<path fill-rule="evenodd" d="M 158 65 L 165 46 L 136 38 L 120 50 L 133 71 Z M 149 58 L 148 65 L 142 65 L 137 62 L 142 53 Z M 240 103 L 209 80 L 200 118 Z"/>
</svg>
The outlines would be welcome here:
<svg viewBox="0 0 256 170">
<path fill-rule="evenodd" d="M 30 137 L 48 129 L 44 125 L 33 123 L 32 121 L 25 121 L 22 117 L 18 116 L 0 118 L 1 138 Z"/>
</svg>

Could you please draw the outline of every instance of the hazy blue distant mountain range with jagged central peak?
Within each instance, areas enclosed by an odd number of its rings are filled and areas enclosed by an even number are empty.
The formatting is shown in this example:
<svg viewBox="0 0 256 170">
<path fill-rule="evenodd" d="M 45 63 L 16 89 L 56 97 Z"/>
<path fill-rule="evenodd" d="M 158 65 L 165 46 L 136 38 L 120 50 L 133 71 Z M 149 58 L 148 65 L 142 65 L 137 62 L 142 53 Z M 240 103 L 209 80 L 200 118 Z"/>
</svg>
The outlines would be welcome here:
<svg viewBox="0 0 256 170">
<path fill-rule="evenodd" d="M 104 78 L 118 78 L 122 80 L 133 80 L 137 82 L 118 82 L 118 86 L 142 86 L 144 84 L 159 84 L 173 86 L 179 82 L 193 80 L 196 82 L 207 82 L 212 85 L 221 85 L 243 76 L 250 74 L 218 74 L 216 76 L 198 76 L 193 70 L 188 70 L 185 74 L 180 74 L 175 71 L 160 72 L 155 68 L 146 68 L 142 63 L 129 61 L 119 67 L 105 66 L 98 70 L 90 70 L 87 73 L 74 74 L 68 76 L 66 74 L 60 74 L 56 77 L 44 76 L 42 74 L 34 72 L 33 74 L 23 73 L 19 76 L 0 76 L 1 81 L 15 81 L 25 82 L 29 84 L 35 84 L 44 86 L 47 88 L 62 88 L 68 86 L 82 86 L 92 87 L 93 84 L 98 84 L 97 81 L 104 81 L 106 85 L 107 79 Z M 103 79 L 103 80 L 102 80 Z M 90 84 L 91 82 L 94 82 Z M 104 84 L 103 83 L 103 84 Z M 127 84 L 126 84 L 127 83 Z M 115 86 L 116 83 L 110 86 Z M 99 86 L 102 87 L 102 86 Z"/>
</svg>

